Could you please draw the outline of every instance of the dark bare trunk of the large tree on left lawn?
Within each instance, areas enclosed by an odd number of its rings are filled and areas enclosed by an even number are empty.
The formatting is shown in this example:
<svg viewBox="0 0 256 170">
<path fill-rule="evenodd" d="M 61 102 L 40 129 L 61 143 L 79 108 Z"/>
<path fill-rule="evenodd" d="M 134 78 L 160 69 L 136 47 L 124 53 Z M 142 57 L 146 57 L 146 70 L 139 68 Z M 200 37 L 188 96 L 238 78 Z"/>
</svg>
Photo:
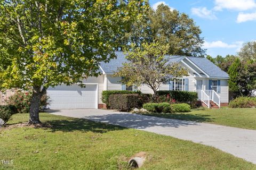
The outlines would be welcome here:
<svg viewBox="0 0 256 170">
<path fill-rule="evenodd" d="M 29 112 L 29 123 L 38 124 L 41 123 L 39 120 L 39 106 L 41 101 L 41 87 L 33 87 L 33 95 L 30 101 L 30 112 Z"/>
</svg>

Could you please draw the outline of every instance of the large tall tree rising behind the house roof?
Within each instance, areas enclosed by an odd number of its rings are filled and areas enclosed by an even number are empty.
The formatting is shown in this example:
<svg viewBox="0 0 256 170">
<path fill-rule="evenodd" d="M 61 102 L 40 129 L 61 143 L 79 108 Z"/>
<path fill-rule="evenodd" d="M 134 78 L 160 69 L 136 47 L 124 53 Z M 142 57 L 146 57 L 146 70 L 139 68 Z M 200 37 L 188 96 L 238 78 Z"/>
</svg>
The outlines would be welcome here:
<svg viewBox="0 0 256 170">
<path fill-rule="evenodd" d="M 187 14 L 161 4 L 156 11 L 147 9 L 142 20 L 135 21 L 123 39 L 138 47 L 154 41 L 169 44 L 167 52 L 172 55 L 203 56 L 204 40 L 200 35 L 200 28 Z"/>
</svg>

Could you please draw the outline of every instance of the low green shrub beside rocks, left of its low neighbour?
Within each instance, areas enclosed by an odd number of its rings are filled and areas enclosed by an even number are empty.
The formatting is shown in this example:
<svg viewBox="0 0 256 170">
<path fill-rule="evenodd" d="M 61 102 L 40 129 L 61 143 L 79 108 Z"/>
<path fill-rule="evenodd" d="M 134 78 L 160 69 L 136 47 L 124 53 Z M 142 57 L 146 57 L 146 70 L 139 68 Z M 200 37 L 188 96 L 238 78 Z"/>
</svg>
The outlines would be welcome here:
<svg viewBox="0 0 256 170">
<path fill-rule="evenodd" d="M 146 103 L 143 104 L 148 112 L 158 112 L 158 113 L 170 113 L 171 105 L 169 103 Z"/>
</svg>

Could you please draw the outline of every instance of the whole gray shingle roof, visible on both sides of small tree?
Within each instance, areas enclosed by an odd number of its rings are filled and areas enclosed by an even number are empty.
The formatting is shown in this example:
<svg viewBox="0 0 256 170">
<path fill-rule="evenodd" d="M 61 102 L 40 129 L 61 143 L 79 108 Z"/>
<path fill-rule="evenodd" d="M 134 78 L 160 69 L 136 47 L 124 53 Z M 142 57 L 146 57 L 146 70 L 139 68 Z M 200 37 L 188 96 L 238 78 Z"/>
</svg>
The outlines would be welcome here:
<svg viewBox="0 0 256 170">
<path fill-rule="evenodd" d="M 123 63 L 127 63 L 128 61 L 125 58 L 125 54 L 123 52 L 115 52 L 116 58 L 111 59 L 109 63 L 101 62 L 100 66 L 103 71 L 106 73 L 113 73 L 117 71 L 118 67 L 121 67 Z M 180 62 L 186 56 L 170 56 L 166 55 L 166 57 L 170 58 L 170 62 Z M 201 70 L 203 70 L 210 77 L 214 78 L 229 78 L 228 74 L 222 71 L 217 65 L 213 64 L 211 61 L 207 60 L 207 58 L 203 57 L 187 57 L 191 62 L 197 65 Z"/>
</svg>

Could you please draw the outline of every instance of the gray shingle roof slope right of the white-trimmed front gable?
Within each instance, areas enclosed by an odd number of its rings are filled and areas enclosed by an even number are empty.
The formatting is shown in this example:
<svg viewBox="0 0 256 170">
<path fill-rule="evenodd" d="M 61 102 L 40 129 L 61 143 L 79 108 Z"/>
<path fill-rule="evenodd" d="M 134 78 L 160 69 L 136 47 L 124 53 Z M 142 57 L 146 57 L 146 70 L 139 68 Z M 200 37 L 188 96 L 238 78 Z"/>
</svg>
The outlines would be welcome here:
<svg viewBox="0 0 256 170">
<path fill-rule="evenodd" d="M 213 64 L 210 60 L 204 57 L 187 57 L 191 62 L 197 65 L 201 70 L 213 78 L 229 78 L 225 71 Z"/>
</svg>

